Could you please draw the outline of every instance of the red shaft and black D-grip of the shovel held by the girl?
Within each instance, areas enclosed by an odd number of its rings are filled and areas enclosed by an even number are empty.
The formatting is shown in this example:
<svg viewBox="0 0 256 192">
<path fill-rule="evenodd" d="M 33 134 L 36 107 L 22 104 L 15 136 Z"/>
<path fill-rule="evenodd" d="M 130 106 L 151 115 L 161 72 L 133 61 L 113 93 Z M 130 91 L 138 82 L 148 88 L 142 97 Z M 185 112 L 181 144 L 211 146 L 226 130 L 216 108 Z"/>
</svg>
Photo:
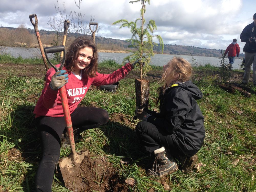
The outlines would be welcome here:
<svg viewBox="0 0 256 192">
<path fill-rule="evenodd" d="M 55 69 L 55 71 L 57 72 L 59 70 L 62 70 L 62 68 L 64 66 L 64 62 L 65 62 L 65 47 L 63 45 L 45 47 L 44 51 L 45 51 L 47 61 Z M 63 59 L 62 59 L 61 65 L 59 66 L 59 68 L 57 68 L 55 65 L 53 65 L 49 61 L 49 59 L 47 57 L 47 54 L 61 52 L 61 51 L 63 51 Z M 67 132 L 68 132 L 68 139 L 69 139 L 69 144 L 70 144 L 70 148 L 71 148 L 71 153 L 75 157 L 76 156 L 76 150 L 75 150 L 74 134 L 73 134 L 73 127 L 72 127 L 72 122 L 71 122 L 71 116 L 70 116 L 70 111 L 69 111 L 68 99 L 67 99 L 67 93 L 66 93 L 65 86 L 61 87 L 59 89 L 59 91 L 60 91 L 60 98 L 61 98 L 64 118 L 65 118 L 65 122 L 66 122 L 66 128 L 67 128 Z"/>
</svg>

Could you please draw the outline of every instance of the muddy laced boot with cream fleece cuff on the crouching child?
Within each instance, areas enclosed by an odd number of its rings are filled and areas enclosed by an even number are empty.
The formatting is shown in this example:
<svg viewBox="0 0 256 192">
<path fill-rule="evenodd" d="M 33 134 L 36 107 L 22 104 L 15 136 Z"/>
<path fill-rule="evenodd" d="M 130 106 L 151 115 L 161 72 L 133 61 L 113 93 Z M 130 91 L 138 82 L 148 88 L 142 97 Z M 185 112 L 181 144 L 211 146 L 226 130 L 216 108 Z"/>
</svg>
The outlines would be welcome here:
<svg viewBox="0 0 256 192">
<path fill-rule="evenodd" d="M 174 173 L 178 169 L 175 159 L 165 152 L 165 148 L 161 147 L 154 151 L 155 162 L 152 169 L 147 170 L 148 176 L 165 177 L 166 175 Z"/>
</svg>

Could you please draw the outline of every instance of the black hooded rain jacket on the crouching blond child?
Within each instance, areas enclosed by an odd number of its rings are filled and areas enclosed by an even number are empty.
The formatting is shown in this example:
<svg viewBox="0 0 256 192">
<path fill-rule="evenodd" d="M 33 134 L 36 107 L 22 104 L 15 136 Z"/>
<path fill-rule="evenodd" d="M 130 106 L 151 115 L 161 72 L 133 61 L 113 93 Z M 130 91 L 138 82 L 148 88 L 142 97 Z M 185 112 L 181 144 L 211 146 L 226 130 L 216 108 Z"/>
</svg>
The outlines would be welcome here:
<svg viewBox="0 0 256 192">
<path fill-rule="evenodd" d="M 150 111 L 147 122 L 162 127 L 185 155 L 196 154 L 204 141 L 204 117 L 196 100 L 202 92 L 192 81 L 168 88 L 160 95 L 160 113 Z"/>
</svg>

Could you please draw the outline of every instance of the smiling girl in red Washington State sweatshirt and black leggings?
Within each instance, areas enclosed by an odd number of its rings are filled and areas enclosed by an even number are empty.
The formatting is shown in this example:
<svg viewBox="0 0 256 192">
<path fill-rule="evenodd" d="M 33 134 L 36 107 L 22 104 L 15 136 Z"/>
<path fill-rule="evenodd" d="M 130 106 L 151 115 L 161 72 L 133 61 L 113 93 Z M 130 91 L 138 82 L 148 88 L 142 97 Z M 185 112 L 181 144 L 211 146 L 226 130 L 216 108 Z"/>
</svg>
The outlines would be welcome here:
<svg viewBox="0 0 256 192">
<path fill-rule="evenodd" d="M 124 78 L 135 64 L 126 63 L 111 74 L 98 73 L 97 47 L 92 38 L 80 36 L 68 48 L 63 69 L 55 72 L 54 68 L 50 68 L 47 71 L 45 87 L 34 110 L 42 148 L 36 191 L 52 191 L 54 171 L 60 158 L 61 138 L 66 124 L 59 89 L 66 87 L 72 125 L 78 127 L 78 133 L 81 133 L 103 125 L 109 119 L 104 109 L 78 106 L 90 85 L 114 84 Z"/>
</svg>

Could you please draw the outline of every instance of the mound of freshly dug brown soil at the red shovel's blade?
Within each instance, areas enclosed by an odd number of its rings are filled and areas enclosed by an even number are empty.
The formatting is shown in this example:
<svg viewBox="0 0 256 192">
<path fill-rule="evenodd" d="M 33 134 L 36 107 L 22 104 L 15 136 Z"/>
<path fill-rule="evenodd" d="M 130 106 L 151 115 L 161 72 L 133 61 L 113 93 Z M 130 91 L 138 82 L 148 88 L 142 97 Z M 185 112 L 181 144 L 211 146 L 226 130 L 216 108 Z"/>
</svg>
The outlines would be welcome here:
<svg viewBox="0 0 256 192">
<path fill-rule="evenodd" d="M 66 187 L 72 191 L 127 192 L 129 188 L 113 165 L 105 157 L 93 156 L 83 151 L 81 163 L 61 169 Z M 60 160 L 61 161 L 61 160 Z M 69 169 L 71 168 L 71 169 Z M 70 171 L 71 170 L 71 171 Z"/>
</svg>

